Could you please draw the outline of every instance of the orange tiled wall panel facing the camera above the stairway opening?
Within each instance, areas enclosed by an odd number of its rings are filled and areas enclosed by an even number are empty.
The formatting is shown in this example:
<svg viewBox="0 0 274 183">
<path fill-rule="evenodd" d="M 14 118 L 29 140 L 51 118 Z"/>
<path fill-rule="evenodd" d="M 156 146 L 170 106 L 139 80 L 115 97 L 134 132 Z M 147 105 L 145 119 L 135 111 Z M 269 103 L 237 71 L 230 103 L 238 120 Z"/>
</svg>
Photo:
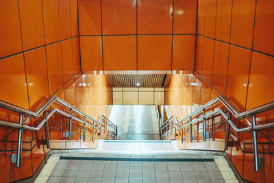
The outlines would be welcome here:
<svg viewBox="0 0 274 183">
<path fill-rule="evenodd" d="M 82 71 L 193 71 L 196 10 L 196 0 L 79 0 Z"/>
</svg>

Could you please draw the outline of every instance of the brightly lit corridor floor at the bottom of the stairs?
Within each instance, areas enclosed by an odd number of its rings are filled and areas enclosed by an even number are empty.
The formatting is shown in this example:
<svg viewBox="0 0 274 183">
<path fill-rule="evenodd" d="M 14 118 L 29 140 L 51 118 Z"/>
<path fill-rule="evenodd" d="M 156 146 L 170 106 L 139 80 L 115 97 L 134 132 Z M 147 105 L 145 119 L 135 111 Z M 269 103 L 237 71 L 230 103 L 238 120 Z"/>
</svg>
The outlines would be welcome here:
<svg viewBox="0 0 274 183">
<path fill-rule="evenodd" d="M 160 140 L 155 106 L 114 105 L 110 121 L 118 127 L 118 140 Z"/>
</svg>

